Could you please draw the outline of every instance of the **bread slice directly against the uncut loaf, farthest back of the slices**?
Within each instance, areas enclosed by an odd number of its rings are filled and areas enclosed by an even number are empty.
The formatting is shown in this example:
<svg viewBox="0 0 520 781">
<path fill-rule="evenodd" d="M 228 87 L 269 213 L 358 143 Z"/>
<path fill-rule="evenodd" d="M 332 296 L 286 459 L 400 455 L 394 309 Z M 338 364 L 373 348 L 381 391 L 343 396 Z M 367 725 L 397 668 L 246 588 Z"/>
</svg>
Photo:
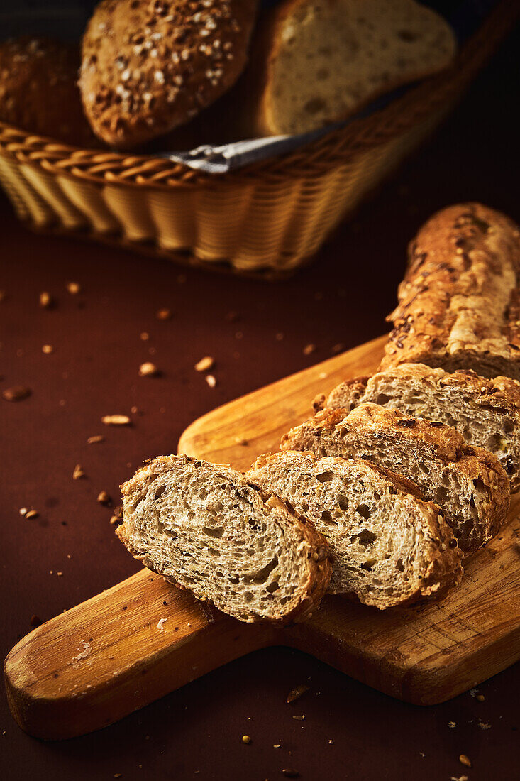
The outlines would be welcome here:
<svg viewBox="0 0 520 781">
<path fill-rule="evenodd" d="M 328 397 L 316 397 L 313 403 L 315 410 L 350 412 L 366 401 L 453 426 L 468 444 L 496 455 L 509 477 L 511 493 L 520 490 L 518 380 L 486 380 L 469 369 L 448 373 L 422 363 L 402 363 L 372 377 L 340 383 Z"/>
</svg>

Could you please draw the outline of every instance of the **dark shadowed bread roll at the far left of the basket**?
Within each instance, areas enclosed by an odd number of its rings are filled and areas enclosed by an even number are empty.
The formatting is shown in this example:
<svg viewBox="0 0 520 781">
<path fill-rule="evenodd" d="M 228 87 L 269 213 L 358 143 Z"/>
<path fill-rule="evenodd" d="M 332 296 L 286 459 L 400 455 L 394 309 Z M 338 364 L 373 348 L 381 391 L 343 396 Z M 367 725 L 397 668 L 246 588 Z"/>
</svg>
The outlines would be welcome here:
<svg viewBox="0 0 520 781">
<path fill-rule="evenodd" d="M 98 147 L 77 88 L 80 53 L 48 38 L 0 43 L 0 121 L 55 141 Z"/>
</svg>

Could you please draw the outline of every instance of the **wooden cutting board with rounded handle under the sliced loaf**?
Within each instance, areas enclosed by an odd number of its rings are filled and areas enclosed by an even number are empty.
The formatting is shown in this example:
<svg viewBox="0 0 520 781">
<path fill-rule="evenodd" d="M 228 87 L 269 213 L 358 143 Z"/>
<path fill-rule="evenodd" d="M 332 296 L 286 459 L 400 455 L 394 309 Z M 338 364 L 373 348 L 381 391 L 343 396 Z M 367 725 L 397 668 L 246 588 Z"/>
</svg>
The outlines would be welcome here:
<svg viewBox="0 0 520 781">
<path fill-rule="evenodd" d="M 232 401 L 196 420 L 179 450 L 247 469 L 308 417 L 315 394 L 372 373 L 385 337 Z M 378 612 L 326 597 L 305 624 L 249 625 L 194 600 L 144 569 L 56 616 L 5 660 L 16 721 L 66 738 L 98 729 L 260 647 L 283 644 L 386 694 L 435 704 L 520 658 L 520 497 L 500 536 L 466 562 L 442 601 Z"/>
</svg>

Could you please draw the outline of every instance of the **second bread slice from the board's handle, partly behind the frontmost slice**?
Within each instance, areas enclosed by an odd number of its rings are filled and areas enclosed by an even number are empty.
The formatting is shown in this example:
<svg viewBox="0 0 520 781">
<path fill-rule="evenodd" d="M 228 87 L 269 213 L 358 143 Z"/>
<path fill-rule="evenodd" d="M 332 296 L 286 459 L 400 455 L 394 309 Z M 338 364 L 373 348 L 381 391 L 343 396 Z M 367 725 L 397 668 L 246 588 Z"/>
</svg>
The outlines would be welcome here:
<svg viewBox="0 0 520 781">
<path fill-rule="evenodd" d="M 302 512 L 333 551 L 333 594 L 380 610 L 438 594 L 461 579 L 461 551 L 433 502 L 404 477 L 365 461 L 283 451 L 248 478 Z"/>
</svg>

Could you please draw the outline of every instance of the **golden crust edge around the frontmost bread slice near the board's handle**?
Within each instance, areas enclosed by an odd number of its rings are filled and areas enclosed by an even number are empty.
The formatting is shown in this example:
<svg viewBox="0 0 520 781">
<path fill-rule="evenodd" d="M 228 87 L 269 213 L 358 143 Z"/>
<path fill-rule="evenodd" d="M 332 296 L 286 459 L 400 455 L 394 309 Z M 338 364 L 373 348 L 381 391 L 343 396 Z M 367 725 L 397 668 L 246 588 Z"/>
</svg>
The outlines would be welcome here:
<svg viewBox="0 0 520 781">
<path fill-rule="evenodd" d="M 155 569 L 151 559 L 148 558 L 146 554 L 143 554 L 142 551 L 139 551 L 135 546 L 134 535 L 127 528 L 126 520 L 130 519 L 134 506 L 140 501 L 141 497 L 146 494 L 149 483 L 151 483 L 158 474 L 168 472 L 172 465 L 179 465 L 179 463 L 181 463 L 181 465 L 194 465 L 195 468 L 204 465 L 209 466 L 212 469 L 217 469 L 225 480 L 233 480 L 233 483 L 237 484 L 239 487 L 242 486 L 247 487 L 250 490 L 255 490 L 261 498 L 262 503 L 267 508 L 276 512 L 276 514 L 281 515 L 283 519 L 297 527 L 297 530 L 301 535 L 301 544 L 305 545 L 307 552 L 308 580 L 305 588 L 306 594 L 293 610 L 283 615 L 279 615 L 277 619 L 273 619 L 271 622 L 285 626 L 290 622 L 303 621 L 312 615 L 312 611 L 318 608 L 322 597 L 326 594 L 332 575 L 332 561 L 325 537 L 315 530 L 315 527 L 311 522 L 295 512 L 294 508 L 287 502 L 281 501 L 276 496 L 265 494 L 265 492 L 255 486 L 254 483 L 247 480 L 244 475 L 237 473 L 228 465 L 209 465 L 207 462 L 191 458 L 191 456 L 187 455 L 159 456 L 144 464 L 130 480 L 123 483 L 121 491 L 123 494 L 123 518 L 125 519 L 125 522 L 116 529 L 116 535 L 134 558 L 143 562 L 144 566 L 148 567 L 148 569 L 158 572 L 158 569 Z M 164 572 L 158 572 L 158 574 L 164 575 Z M 172 579 L 171 576 L 167 577 L 166 580 L 169 580 L 170 583 L 173 583 L 176 586 L 180 585 L 175 579 Z M 202 601 L 211 602 L 210 597 L 201 590 L 198 584 L 194 584 L 191 591 L 194 594 L 194 597 L 197 597 Z M 255 622 L 262 619 L 257 616 L 252 616 L 250 620 L 251 622 Z"/>
</svg>

